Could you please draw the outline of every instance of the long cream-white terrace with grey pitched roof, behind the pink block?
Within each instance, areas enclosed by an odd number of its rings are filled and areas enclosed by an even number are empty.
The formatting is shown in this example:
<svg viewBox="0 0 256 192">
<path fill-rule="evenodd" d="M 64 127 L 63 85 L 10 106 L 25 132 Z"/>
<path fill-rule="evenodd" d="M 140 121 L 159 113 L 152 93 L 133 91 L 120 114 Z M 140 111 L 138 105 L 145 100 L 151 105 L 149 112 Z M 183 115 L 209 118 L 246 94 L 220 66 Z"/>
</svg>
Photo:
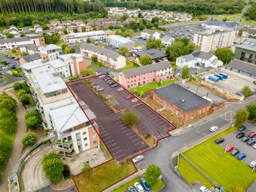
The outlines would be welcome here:
<svg viewBox="0 0 256 192">
<path fill-rule="evenodd" d="M 106 48 L 83 43 L 81 44 L 80 49 L 85 57 L 91 58 L 93 55 L 97 55 L 98 61 L 111 68 L 120 69 L 126 66 L 126 58 L 124 56 Z"/>
</svg>

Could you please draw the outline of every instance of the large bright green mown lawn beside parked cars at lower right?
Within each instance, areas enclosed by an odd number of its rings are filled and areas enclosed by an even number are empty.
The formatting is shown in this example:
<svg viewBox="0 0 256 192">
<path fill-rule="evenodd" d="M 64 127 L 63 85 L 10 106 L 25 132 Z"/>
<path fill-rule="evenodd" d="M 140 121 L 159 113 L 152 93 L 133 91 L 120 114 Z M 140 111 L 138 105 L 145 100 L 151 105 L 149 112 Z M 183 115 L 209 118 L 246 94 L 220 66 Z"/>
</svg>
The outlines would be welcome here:
<svg viewBox="0 0 256 192">
<path fill-rule="evenodd" d="M 240 186 L 245 189 L 256 180 L 256 171 L 251 173 L 251 168 L 248 165 L 229 153 L 224 154 L 224 149 L 214 143 L 215 139 L 224 137 L 236 129 L 237 127 L 229 128 L 183 153 L 226 190 L 232 186 Z"/>
</svg>

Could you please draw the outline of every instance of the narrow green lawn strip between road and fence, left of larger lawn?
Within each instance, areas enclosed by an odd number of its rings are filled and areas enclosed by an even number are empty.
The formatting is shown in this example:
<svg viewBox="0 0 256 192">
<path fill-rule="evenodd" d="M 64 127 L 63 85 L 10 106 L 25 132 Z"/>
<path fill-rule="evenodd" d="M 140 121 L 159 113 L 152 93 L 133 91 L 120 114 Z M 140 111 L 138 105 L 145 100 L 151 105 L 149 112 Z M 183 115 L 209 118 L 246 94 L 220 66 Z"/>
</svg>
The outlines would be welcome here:
<svg viewBox="0 0 256 192">
<path fill-rule="evenodd" d="M 179 155 L 179 168 L 177 170 L 184 179 L 187 180 L 190 184 L 195 181 L 199 181 L 207 188 L 213 187 L 213 183 L 209 181 L 202 173 L 197 171 L 197 169 L 191 165 L 187 160 Z"/>
</svg>

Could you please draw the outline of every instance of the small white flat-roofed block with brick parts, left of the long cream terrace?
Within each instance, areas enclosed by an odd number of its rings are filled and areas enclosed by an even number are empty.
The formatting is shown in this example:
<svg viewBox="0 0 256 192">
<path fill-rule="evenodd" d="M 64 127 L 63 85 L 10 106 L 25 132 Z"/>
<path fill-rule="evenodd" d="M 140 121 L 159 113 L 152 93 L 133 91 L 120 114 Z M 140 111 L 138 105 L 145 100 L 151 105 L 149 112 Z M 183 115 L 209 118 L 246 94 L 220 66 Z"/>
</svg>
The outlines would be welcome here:
<svg viewBox="0 0 256 192">
<path fill-rule="evenodd" d="M 52 61 L 59 58 L 59 52 L 62 52 L 61 47 L 57 45 L 44 45 L 38 48 L 43 60 Z"/>
</svg>

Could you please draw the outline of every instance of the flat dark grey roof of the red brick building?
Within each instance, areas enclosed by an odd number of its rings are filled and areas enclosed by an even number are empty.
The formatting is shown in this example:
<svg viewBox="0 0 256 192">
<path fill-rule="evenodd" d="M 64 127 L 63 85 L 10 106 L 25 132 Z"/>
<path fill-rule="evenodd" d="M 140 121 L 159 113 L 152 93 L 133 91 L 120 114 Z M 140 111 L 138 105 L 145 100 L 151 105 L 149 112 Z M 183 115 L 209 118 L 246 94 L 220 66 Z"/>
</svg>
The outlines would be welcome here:
<svg viewBox="0 0 256 192">
<path fill-rule="evenodd" d="M 193 111 L 210 103 L 176 84 L 157 89 L 154 92 L 184 112 Z"/>
</svg>

